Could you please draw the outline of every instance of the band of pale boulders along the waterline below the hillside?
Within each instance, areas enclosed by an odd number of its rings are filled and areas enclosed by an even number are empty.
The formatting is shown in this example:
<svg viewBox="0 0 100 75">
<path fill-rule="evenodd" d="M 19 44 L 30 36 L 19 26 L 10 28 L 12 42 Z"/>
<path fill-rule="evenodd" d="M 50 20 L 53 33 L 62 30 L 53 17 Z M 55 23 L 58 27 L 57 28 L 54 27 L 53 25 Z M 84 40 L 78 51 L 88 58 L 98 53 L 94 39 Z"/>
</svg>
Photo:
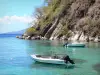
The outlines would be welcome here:
<svg viewBox="0 0 100 75">
<path fill-rule="evenodd" d="M 84 41 L 84 42 L 100 42 L 100 37 L 91 37 L 91 36 L 86 36 L 83 33 L 79 34 L 77 33 L 73 33 L 73 35 L 69 38 L 67 38 L 66 36 L 62 36 L 61 38 L 57 38 L 56 37 L 50 37 L 49 39 L 47 39 L 46 37 L 42 37 L 40 35 L 37 36 L 29 36 L 29 35 L 21 35 L 21 36 L 16 36 L 16 38 L 19 39 L 25 39 L 25 40 L 67 40 L 67 41 Z"/>
</svg>

